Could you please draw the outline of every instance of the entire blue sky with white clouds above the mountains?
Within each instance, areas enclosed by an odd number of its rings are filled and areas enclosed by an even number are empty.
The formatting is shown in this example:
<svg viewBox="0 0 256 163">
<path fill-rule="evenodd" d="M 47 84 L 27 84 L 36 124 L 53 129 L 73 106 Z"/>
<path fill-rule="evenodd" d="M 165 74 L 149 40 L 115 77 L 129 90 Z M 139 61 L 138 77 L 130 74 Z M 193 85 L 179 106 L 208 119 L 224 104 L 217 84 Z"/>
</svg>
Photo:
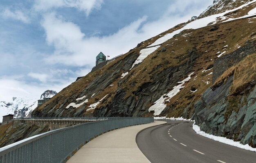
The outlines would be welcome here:
<svg viewBox="0 0 256 163">
<path fill-rule="evenodd" d="M 0 100 L 60 91 L 115 57 L 199 15 L 212 0 L 1 0 Z"/>
</svg>

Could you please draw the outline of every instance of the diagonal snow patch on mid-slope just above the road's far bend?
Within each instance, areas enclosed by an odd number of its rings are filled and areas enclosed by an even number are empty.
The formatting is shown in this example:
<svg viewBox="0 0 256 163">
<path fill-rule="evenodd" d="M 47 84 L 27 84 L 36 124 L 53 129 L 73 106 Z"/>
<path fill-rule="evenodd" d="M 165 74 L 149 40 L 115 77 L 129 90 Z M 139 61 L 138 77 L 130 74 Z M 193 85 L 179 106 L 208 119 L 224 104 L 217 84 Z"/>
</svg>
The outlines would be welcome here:
<svg viewBox="0 0 256 163">
<path fill-rule="evenodd" d="M 152 105 L 149 109 L 148 109 L 148 112 L 150 111 L 154 111 L 154 115 L 159 115 L 162 113 L 162 111 L 164 110 L 164 108 L 166 107 L 166 104 L 164 103 L 165 100 L 169 100 L 171 99 L 173 96 L 175 96 L 181 88 L 183 88 L 184 86 L 184 83 L 186 81 L 189 81 L 189 79 L 191 78 L 191 75 L 193 74 L 194 72 L 192 72 L 191 74 L 189 74 L 189 77 L 188 78 L 185 78 L 184 80 L 182 80 L 181 82 L 178 82 L 180 85 L 177 85 L 175 87 L 173 87 L 173 90 L 171 90 L 169 93 L 167 94 L 164 94 L 163 96 L 161 96 L 156 102 L 154 105 Z"/>
</svg>

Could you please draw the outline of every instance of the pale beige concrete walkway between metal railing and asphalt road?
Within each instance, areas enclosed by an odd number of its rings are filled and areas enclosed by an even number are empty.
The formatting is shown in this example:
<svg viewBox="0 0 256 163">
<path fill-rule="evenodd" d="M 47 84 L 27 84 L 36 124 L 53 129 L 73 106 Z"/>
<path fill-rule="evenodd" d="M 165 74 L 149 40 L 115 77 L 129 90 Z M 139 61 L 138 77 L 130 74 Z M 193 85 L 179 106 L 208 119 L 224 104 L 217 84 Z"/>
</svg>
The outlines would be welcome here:
<svg viewBox="0 0 256 163">
<path fill-rule="evenodd" d="M 136 135 L 144 128 L 165 123 L 155 121 L 105 133 L 89 141 L 67 163 L 150 163 L 139 150 Z"/>
</svg>

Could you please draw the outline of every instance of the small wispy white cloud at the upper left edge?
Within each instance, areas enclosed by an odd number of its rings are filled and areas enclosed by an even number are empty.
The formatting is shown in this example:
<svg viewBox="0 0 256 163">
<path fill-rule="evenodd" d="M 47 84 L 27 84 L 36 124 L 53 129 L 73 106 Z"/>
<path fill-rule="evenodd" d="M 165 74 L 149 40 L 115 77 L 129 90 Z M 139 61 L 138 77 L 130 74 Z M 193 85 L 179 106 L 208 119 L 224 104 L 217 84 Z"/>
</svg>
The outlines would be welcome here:
<svg viewBox="0 0 256 163">
<path fill-rule="evenodd" d="M 11 11 L 10 9 L 5 9 L 4 11 L 2 11 L 2 13 L 0 13 L 0 15 L 4 18 L 4 19 L 14 19 L 14 20 L 20 20 L 24 23 L 29 23 L 29 17 L 25 15 L 25 13 L 23 13 L 20 10 L 14 10 Z"/>
</svg>

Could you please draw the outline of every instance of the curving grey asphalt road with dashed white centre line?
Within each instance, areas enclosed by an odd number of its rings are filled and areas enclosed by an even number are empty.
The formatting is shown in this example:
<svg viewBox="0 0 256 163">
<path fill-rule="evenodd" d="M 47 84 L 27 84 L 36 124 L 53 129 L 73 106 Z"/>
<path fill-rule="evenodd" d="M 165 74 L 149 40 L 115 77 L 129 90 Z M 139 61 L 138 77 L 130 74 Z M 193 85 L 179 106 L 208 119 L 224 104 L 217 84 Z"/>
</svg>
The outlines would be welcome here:
<svg viewBox="0 0 256 163">
<path fill-rule="evenodd" d="M 137 145 L 151 163 L 256 163 L 256 152 L 197 135 L 192 122 L 166 122 L 137 135 Z"/>
</svg>

